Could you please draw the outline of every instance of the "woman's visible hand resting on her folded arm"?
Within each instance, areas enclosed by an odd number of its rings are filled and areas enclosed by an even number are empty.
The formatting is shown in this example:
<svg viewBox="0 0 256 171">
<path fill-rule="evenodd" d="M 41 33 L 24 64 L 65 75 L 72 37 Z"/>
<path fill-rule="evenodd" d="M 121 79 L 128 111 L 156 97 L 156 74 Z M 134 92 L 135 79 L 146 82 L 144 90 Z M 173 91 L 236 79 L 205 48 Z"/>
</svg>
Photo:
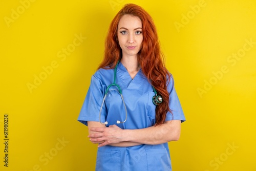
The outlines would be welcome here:
<svg viewBox="0 0 256 171">
<path fill-rule="evenodd" d="M 88 136 L 90 141 L 104 141 L 103 143 L 99 144 L 98 147 L 123 141 L 123 130 L 117 125 L 110 125 L 109 127 L 91 127 L 90 131 L 94 132 Z"/>
</svg>

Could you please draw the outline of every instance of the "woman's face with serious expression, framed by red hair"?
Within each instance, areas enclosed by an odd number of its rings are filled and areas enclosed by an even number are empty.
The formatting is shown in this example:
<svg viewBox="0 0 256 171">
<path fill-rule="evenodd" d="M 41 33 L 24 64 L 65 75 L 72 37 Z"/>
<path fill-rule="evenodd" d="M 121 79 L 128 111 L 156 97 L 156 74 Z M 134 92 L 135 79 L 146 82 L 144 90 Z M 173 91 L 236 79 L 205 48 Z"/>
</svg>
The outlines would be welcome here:
<svg viewBox="0 0 256 171">
<path fill-rule="evenodd" d="M 142 23 L 139 17 L 124 15 L 121 17 L 117 35 L 123 57 L 136 56 L 142 47 Z"/>
</svg>

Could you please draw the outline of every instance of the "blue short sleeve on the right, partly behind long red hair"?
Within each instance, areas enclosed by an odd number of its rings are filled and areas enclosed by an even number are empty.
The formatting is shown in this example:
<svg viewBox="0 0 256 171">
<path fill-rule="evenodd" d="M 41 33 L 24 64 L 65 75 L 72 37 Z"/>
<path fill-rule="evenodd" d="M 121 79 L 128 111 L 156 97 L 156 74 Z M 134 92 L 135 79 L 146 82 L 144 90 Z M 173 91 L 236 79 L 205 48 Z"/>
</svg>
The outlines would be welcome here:
<svg viewBox="0 0 256 171">
<path fill-rule="evenodd" d="M 184 122 L 186 119 L 181 108 L 180 100 L 174 88 L 174 79 L 172 75 L 170 76 L 170 81 L 167 84 L 167 91 L 169 92 L 169 108 L 172 113 L 167 112 L 165 121 L 181 120 L 181 122 Z"/>
</svg>

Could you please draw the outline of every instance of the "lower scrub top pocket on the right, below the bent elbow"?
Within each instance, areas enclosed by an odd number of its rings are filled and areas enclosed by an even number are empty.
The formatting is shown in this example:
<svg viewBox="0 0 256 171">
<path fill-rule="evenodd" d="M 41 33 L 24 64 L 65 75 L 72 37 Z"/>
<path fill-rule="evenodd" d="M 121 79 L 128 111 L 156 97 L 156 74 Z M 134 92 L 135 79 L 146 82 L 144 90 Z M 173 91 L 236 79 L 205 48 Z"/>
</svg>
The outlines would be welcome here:
<svg viewBox="0 0 256 171">
<path fill-rule="evenodd" d="M 147 171 L 172 171 L 166 148 L 146 149 Z"/>
</svg>

